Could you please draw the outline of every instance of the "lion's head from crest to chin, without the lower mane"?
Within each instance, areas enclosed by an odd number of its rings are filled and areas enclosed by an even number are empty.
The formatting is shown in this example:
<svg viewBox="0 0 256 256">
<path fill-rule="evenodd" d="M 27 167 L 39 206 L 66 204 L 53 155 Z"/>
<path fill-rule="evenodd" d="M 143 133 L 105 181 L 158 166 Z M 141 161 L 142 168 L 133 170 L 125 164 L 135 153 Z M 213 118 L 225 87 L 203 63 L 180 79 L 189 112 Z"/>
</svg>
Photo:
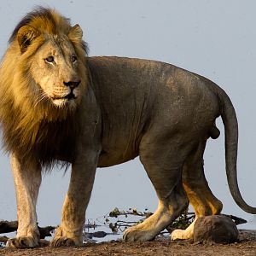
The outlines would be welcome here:
<svg viewBox="0 0 256 256">
<path fill-rule="evenodd" d="M 82 36 L 79 25 L 70 26 L 69 20 L 52 9 L 36 9 L 16 26 L 7 61 L 9 55 L 15 55 L 15 66 L 24 81 L 20 90 L 22 95 L 24 90 L 33 93 L 34 107 L 44 102 L 73 108 L 79 102 L 85 83 Z"/>
</svg>

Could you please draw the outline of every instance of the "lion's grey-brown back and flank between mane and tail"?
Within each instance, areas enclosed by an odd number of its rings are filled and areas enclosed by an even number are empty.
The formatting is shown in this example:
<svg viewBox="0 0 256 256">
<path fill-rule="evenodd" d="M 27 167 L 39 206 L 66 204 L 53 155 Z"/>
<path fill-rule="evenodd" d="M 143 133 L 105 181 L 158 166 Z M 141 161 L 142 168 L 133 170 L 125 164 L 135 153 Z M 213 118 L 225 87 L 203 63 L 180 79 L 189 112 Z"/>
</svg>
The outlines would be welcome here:
<svg viewBox="0 0 256 256">
<path fill-rule="evenodd" d="M 218 100 L 211 86 L 182 68 L 122 57 L 90 57 L 88 67 L 102 109 L 99 166 L 136 157 L 148 127 L 153 132 L 186 133 L 191 132 L 192 123 L 204 119 L 211 126 L 218 116 Z"/>
</svg>

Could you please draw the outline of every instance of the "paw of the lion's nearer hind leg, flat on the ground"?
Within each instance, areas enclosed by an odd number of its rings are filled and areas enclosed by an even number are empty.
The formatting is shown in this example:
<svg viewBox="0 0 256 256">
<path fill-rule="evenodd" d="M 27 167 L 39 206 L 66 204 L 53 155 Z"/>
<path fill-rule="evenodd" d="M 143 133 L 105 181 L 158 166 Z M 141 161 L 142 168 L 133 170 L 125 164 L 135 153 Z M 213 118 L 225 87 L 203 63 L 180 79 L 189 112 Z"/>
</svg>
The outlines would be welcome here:
<svg viewBox="0 0 256 256">
<path fill-rule="evenodd" d="M 124 241 L 150 241 L 154 239 L 154 234 L 149 230 L 139 229 L 134 226 L 125 230 L 123 239 Z"/>
</svg>

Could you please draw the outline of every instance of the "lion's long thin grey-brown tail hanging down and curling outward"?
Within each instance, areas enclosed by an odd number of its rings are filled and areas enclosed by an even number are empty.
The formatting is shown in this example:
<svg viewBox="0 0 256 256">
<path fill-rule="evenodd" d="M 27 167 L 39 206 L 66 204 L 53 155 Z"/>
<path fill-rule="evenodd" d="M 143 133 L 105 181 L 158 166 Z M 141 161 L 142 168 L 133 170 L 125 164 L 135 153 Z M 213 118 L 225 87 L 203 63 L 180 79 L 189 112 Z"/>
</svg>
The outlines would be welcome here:
<svg viewBox="0 0 256 256">
<path fill-rule="evenodd" d="M 229 96 L 220 89 L 219 99 L 222 103 L 221 118 L 224 122 L 225 131 L 225 159 L 226 174 L 228 178 L 230 193 L 236 204 L 245 212 L 256 214 L 256 207 L 250 207 L 241 197 L 241 193 L 237 183 L 236 160 L 238 145 L 238 124 L 236 112 L 230 101 Z"/>
</svg>

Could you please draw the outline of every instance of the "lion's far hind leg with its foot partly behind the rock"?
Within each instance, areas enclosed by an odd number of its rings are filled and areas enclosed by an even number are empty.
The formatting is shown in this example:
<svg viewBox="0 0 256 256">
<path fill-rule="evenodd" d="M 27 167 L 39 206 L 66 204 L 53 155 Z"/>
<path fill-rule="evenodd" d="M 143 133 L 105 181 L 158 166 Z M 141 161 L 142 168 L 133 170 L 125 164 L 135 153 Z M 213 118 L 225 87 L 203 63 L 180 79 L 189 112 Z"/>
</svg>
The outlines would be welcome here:
<svg viewBox="0 0 256 256">
<path fill-rule="evenodd" d="M 222 203 L 212 195 L 204 174 L 205 145 L 206 142 L 200 143 L 183 165 L 183 188 L 189 197 L 189 203 L 195 210 L 195 220 L 201 216 L 218 214 L 222 210 Z M 174 230 L 172 240 L 192 238 L 195 220 L 186 230 Z"/>
</svg>

